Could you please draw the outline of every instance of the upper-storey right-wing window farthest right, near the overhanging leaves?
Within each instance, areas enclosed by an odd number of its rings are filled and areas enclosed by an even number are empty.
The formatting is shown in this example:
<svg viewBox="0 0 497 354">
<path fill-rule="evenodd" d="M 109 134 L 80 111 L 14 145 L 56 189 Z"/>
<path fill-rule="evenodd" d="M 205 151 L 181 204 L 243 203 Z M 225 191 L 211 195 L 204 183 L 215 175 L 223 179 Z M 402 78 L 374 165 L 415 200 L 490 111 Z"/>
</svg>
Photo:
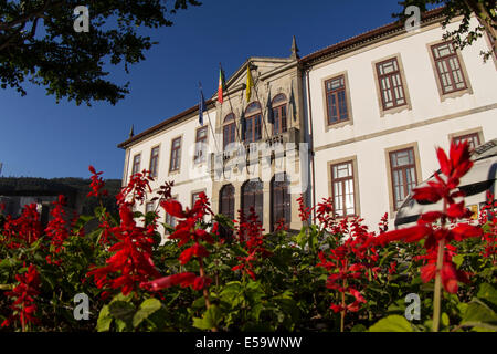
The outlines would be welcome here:
<svg viewBox="0 0 497 354">
<path fill-rule="evenodd" d="M 445 42 L 432 45 L 432 53 L 443 94 L 467 88 L 454 44 Z"/>
</svg>

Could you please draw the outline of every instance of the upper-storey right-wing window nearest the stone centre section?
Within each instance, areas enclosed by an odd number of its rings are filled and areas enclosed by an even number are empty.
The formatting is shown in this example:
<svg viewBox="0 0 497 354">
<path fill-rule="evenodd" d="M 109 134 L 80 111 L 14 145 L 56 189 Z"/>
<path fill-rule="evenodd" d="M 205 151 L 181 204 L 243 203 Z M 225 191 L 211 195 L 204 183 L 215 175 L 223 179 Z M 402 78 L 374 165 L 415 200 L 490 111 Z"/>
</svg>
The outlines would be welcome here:
<svg viewBox="0 0 497 354">
<path fill-rule="evenodd" d="M 325 82 L 325 86 L 328 125 L 348 121 L 345 76 L 328 80 Z"/>
</svg>

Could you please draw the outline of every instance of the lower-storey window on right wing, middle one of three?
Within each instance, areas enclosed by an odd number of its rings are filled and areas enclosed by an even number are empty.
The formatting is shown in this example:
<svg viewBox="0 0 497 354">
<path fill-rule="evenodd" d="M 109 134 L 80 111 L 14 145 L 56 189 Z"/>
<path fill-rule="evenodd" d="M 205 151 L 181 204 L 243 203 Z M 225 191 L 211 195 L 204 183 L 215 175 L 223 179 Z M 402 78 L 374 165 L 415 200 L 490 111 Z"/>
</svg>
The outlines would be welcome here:
<svg viewBox="0 0 497 354">
<path fill-rule="evenodd" d="M 414 148 L 405 148 L 390 154 L 392 174 L 393 205 L 396 210 L 417 185 Z"/>
</svg>

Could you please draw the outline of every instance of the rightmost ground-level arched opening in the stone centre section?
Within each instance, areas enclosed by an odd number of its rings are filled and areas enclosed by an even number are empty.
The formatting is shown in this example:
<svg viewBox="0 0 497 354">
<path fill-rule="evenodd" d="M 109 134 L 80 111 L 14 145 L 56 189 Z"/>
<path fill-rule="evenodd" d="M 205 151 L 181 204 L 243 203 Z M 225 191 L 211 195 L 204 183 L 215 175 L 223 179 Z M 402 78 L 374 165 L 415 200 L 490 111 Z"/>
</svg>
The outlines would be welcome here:
<svg viewBox="0 0 497 354">
<path fill-rule="evenodd" d="M 288 188 L 289 180 L 285 173 L 276 174 L 271 180 L 271 231 L 282 220 L 285 227 L 289 227 L 292 200 Z"/>
</svg>

